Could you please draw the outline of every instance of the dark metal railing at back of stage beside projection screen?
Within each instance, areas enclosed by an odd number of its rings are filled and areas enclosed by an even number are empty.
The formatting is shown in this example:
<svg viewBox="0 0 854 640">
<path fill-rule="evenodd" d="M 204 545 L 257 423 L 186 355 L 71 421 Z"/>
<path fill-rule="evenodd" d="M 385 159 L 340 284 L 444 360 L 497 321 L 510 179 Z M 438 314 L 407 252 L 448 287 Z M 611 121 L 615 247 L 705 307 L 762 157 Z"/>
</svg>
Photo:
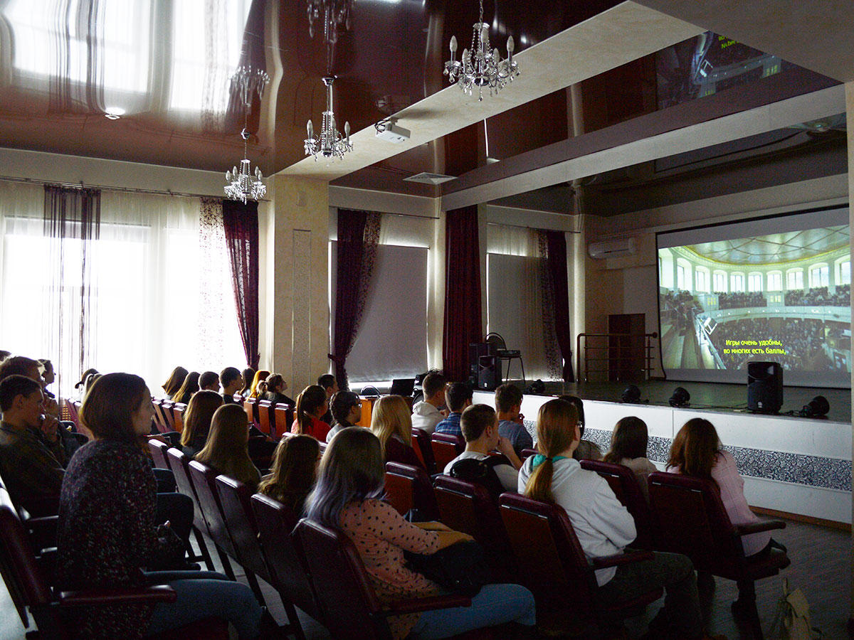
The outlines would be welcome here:
<svg viewBox="0 0 854 640">
<path fill-rule="evenodd" d="M 588 344 L 591 338 L 594 339 L 594 345 Z M 619 340 L 612 340 L 613 338 Z M 634 340 L 623 340 L 629 338 Z M 595 344 L 595 340 L 603 339 L 604 345 Z M 637 344 L 641 339 L 644 344 Z M 652 349 L 655 347 L 653 340 L 658 340 L 658 333 L 654 331 L 652 334 L 578 334 L 576 339 L 577 380 L 588 382 L 590 374 L 598 373 L 604 373 L 605 380 L 609 380 L 611 374 L 616 374 L 617 380 L 636 380 L 638 376 L 642 376 L 643 380 L 649 380 L 652 374 Z M 629 344 L 623 344 L 623 342 Z M 605 352 L 605 357 L 600 357 L 599 354 L 602 352 Z M 642 354 L 642 367 L 635 364 L 639 359 L 636 355 L 638 352 Z M 607 366 L 605 369 L 597 369 L 595 368 L 597 365 L 594 364 L 594 369 L 590 369 L 590 363 L 605 363 Z"/>
</svg>

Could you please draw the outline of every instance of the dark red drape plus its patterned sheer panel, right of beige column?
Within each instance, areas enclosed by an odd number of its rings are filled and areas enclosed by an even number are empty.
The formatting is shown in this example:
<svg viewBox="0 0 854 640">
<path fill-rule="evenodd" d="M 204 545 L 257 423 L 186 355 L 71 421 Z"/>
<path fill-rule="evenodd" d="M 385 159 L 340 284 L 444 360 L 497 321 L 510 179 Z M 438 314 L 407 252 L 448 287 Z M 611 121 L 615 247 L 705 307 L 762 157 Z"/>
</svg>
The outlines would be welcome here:
<svg viewBox="0 0 854 640">
<path fill-rule="evenodd" d="M 334 353 L 338 387 L 348 389 L 347 358 L 353 350 L 377 262 L 381 216 L 377 212 L 338 210 L 338 274 L 335 292 Z M 355 277 L 354 277 L 355 275 Z"/>
</svg>

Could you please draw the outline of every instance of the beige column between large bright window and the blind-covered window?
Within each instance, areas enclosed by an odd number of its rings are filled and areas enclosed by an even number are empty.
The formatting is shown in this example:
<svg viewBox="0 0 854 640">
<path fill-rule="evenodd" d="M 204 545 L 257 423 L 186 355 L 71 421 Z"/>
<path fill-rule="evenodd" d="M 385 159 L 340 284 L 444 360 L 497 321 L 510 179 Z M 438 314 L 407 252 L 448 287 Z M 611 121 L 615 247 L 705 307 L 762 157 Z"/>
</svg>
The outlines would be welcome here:
<svg viewBox="0 0 854 640">
<path fill-rule="evenodd" d="M 260 365 L 284 375 L 288 394 L 329 371 L 329 184 L 270 178 L 263 243 Z"/>
</svg>

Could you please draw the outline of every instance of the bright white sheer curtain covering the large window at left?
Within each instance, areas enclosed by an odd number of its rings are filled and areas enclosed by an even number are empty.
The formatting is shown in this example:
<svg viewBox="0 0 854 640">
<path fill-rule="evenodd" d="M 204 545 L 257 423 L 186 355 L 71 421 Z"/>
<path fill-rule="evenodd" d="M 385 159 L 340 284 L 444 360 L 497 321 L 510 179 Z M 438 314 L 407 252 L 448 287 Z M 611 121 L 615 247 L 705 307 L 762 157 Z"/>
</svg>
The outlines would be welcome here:
<svg viewBox="0 0 854 640">
<path fill-rule="evenodd" d="M 51 318 L 41 303 L 50 282 L 43 216 L 42 187 L 0 183 L 0 348 L 32 358 L 52 355 L 46 342 Z M 103 191 L 100 238 L 92 245 L 97 334 L 86 367 L 142 375 L 159 393 L 178 364 L 197 371 L 243 365 L 227 256 L 202 259 L 197 198 Z M 67 251 L 68 264 L 73 247 Z M 210 273 L 225 273 L 219 282 L 208 278 L 208 287 L 224 292 L 219 308 L 202 302 L 203 276 Z M 65 373 L 60 393 L 68 395 L 76 366 L 55 365 Z"/>
</svg>

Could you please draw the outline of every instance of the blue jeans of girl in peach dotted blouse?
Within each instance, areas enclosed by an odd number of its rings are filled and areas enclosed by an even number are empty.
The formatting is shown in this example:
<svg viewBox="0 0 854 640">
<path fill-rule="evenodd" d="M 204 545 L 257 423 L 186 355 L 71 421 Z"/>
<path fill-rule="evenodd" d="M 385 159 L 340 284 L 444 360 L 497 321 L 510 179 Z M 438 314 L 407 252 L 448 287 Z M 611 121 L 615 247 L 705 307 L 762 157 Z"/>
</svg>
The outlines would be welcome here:
<svg viewBox="0 0 854 640">
<path fill-rule="evenodd" d="M 536 624 L 534 596 L 521 585 L 485 585 L 471 598 L 471 607 L 424 611 L 412 627 L 412 640 L 456 636 L 484 626 L 518 622 Z"/>
</svg>

